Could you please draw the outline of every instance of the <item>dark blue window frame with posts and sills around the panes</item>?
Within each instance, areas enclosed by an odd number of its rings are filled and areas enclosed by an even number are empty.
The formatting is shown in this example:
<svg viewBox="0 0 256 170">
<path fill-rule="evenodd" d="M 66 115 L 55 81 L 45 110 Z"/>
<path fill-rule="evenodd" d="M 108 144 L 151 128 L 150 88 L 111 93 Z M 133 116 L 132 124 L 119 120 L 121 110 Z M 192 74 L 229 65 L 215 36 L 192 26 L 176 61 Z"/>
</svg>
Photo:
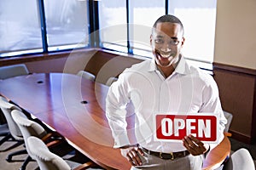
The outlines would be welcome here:
<svg viewBox="0 0 256 170">
<path fill-rule="evenodd" d="M 131 42 L 130 42 L 130 30 L 129 30 L 129 23 L 130 23 L 130 9 L 129 9 L 129 0 L 125 0 L 126 3 L 126 24 L 127 24 L 127 52 L 123 52 L 124 54 L 128 54 L 130 56 L 138 56 L 139 58 L 143 57 L 145 59 L 149 58 L 148 56 L 144 55 L 137 55 L 133 53 L 133 47 L 131 47 Z M 12 56 L 3 56 L 0 59 L 5 59 L 5 58 L 12 58 L 12 57 L 26 57 L 27 55 L 35 55 L 35 54 L 55 54 L 59 52 L 65 52 L 65 51 L 70 51 L 73 49 L 83 49 L 83 48 L 102 48 L 104 50 L 109 50 L 109 51 L 116 51 L 118 53 L 122 53 L 118 50 L 115 50 L 113 48 L 105 48 L 102 45 L 101 42 L 101 37 L 99 33 L 100 29 L 100 24 L 99 24 L 99 2 L 96 0 L 87 0 L 87 7 L 88 7 L 88 21 L 89 21 L 89 44 L 86 47 L 78 47 L 78 48 L 64 48 L 64 49 L 58 49 L 55 51 L 49 51 L 49 45 L 48 45 L 48 40 L 47 40 L 47 26 L 46 26 L 46 19 L 45 19 L 45 10 L 44 10 L 44 0 L 38 0 L 38 12 L 40 14 L 40 23 L 41 23 L 41 34 L 42 34 L 42 45 L 43 45 L 43 52 L 30 52 L 26 53 L 26 51 L 31 51 L 30 49 L 27 49 L 24 53 L 20 54 L 15 54 L 17 51 L 9 51 L 8 53 L 14 53 Z M 169 0 L 165 0 L 165 14 L 168 14 L 168 8 L 169 8 Z M 125 47 L 125 46 L 124 46 Z M 143 49 L 140 49 L 143 50 Z M 145 50 L 145 52 L 148 52 L 148 50 Z M 1 53 L 0 53 L 1 54 Z M 6 54 L 6 53 L 2 53 Z M 187 58 L 189 59 L 189 58 Z M 212 63 L 211 62 L 206 62 L 200 59 L 190 59 L 192 62 L 198 63 L 198 65 L 203 65 L 199 66 L 201 69 L 206 70 L 206 71 L 212 71 Z M 205 66 L 207 65 L 207 66 Z"/>
</svg>

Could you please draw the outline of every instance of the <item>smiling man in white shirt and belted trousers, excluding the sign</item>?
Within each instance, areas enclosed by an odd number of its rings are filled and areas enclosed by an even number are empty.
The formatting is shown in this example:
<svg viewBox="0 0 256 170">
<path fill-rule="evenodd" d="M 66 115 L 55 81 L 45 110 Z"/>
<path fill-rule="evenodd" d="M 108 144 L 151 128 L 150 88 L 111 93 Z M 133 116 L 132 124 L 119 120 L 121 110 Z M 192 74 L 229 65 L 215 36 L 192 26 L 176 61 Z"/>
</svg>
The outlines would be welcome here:
<svg viewBox="0 0 256 170">
<path fill-rule="evenodd" d="M 192 135 L 182 141 L 154 140 L 153 120 L 158 113 L 219 114 L 220 140 L 226 119 L 218 98 L 218 87 L 210 75 L 183 59 L 183 24 L 173 15 L 155 21 L 150 44 L 154 59 L 126 69 L 109 88 L 106 114 L 114 138 L 131 162 L 131 169 L 201 169 L 204 154 L 214 145 L 204 144 Z M 126 133 L 125 106 L 135 108 L 137 144 Z M 170 154 L 172 153 L 172 154 Z"/>
</svg>

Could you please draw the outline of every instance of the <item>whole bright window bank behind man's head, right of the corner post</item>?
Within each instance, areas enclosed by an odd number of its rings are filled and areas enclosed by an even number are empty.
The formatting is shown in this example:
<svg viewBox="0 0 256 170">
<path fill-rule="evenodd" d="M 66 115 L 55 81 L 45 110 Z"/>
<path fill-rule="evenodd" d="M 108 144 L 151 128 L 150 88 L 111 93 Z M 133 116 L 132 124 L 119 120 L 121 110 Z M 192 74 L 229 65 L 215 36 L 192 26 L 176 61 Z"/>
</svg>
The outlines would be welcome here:
<svg viewBox="0 0 256 170">
<path fill-rule="evenodd" d="M 152 57 L 149 36 L 154 21 L 163 14 L 174 14 L 183 22 L 185 30 L 184 56 L 193 65 L 200 61 L 201 67 L 211 70 L 216 1 L 127 0 L 126 4 L 125 0 L 100 1 L 100 31 L 104 32 L 100 34 L 102 47 Z M 119 29 L 120 25 L 122 28 Z M 108 33 L 105 31 L 107 27 Z M 111 45 L 107 45 L 107 42 Z M 118 49 L 116 45 L 123 48 Z"/>
</svg>

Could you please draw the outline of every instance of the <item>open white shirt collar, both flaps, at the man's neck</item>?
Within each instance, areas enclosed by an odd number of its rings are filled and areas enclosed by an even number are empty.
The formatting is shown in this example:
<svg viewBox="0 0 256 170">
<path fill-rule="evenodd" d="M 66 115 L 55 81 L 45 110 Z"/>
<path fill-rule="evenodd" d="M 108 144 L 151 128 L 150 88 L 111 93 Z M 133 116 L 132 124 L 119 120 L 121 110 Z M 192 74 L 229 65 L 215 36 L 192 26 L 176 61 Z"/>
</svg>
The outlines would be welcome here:
<svg viewBox="0 0 256 170">
<path fill-rule="evenodd" d="M 184 74 L 184 75 L 188 74 L 188 70 L 186 69 L 187 66 L 188 66 L 188 63 L 184 59 L 183 55 L 180 55 L 180 59 L 177 63 L 174 73 Z M 153 58 L 153 59 L 151 59 L 151 63 L 148 68 L 148 71 L 157 71 L 157 70 L 158 69 L 157 69 L 157 66 L 156 66 L 154 58 Z"/>
</svg>

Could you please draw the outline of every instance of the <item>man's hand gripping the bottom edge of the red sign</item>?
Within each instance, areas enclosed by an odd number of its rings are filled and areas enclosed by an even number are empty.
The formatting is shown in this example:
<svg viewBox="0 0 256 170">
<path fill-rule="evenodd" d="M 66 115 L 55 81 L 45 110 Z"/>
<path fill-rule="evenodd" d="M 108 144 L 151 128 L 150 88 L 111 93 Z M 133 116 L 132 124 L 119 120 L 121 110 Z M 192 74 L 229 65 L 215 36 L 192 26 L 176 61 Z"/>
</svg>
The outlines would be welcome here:
<svg viewBox="0 0 256 170">
<path fill-rule="evenodd" d="M 204 154 L 209 149 L 209 145 L 206 147 L 205 144 L 203 144 L 199 139 L 196 139 L 191 134 L 183 138 L 183 146 L 189 150 L 192 156 L 199 156 Z"/>
</svg>

